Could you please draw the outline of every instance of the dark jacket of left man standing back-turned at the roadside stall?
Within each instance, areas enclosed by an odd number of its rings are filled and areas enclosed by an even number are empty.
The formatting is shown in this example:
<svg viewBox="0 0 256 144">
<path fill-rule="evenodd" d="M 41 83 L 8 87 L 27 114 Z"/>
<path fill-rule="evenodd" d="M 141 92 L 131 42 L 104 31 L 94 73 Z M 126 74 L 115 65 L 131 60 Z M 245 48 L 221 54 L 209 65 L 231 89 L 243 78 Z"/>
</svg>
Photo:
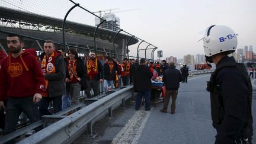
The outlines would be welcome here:
<svg viewBox="0 0 256 144">
<path fill-rule="evenodd" d="M 151 78 L 153 73 L 149 71 L 149 68 L 145 65 L 136 66 L 134 75 L 134 91 L 148 91 L 151 90 L 152 83 Z"/>
</svg>

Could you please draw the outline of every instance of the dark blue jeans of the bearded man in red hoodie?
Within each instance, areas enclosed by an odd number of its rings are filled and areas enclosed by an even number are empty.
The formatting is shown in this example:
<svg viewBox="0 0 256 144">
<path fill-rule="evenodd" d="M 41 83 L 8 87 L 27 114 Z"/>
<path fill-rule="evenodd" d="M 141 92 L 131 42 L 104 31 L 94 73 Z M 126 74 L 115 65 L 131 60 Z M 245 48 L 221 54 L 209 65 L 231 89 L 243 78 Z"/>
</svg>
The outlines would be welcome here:
<svg viewBox="0 0 256 144">
<path fill-rule="evenodd" d="M 15 131 L 21 111 L 27 115 L 31 123 L 40 119 L 37 104 L 33 103 L 33 96 L 25 98 L 8 98 L 5 115 L 5 134 Z"/>
</svg>

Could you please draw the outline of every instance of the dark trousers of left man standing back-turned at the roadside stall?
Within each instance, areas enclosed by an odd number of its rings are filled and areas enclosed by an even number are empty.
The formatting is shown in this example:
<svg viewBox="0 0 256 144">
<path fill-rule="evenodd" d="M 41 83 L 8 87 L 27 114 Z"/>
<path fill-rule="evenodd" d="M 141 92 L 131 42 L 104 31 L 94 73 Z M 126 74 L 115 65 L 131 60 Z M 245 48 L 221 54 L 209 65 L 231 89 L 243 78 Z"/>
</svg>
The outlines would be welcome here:
<svg viewBox="0 0 256 144">
<path fill-rule="evenodd" d="M 136 104 L 135 104 L 136 110 L 139 110 L 140 105 L 142 103 L 143 96 L 145 97 L 145 110 L 150 109 L 151 90 L 148 90 L 148 91 L 138 91 L 137 92 L 137 98 L 136 98 Z"/>
</svg>

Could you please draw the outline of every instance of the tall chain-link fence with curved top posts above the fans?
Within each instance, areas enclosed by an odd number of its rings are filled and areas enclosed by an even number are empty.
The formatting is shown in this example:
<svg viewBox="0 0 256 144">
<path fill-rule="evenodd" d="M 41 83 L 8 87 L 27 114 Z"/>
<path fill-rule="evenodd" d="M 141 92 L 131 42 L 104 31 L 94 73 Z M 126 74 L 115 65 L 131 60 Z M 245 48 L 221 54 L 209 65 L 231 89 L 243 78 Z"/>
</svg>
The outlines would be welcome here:
<svg viewBox="0 0 256 144">
<path fill-rule="evenodd" d="M 91 20 L 98 18 L 98 27 Z M 116 31 L 101 28 L 109 24 Z M 34 48 L 37 55 L 43 52 L 45 40 L 53 40 L 56 48 L 75 48 L 82 59 L 96 52 L 99 60 L 105 56 L 145 58 L 153 60 L 157 49 L 133 34 L 98 17 L 94 12 L 74 1 L 0 1 L 0 43 L 7 47 L 6 36 L 17 33 L 24 37 L 25 48 Z"/>
</svg>

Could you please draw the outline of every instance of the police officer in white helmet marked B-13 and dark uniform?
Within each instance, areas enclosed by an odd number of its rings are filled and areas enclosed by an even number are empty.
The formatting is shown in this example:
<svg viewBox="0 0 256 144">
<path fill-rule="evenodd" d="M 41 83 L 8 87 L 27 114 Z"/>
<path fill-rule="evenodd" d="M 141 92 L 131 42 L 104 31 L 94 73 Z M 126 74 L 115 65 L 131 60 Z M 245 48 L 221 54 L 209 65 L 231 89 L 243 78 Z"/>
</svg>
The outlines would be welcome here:
<svg viewBox="0 0 256 144">
<path fill-rule="evenodd" d="M 215 143 L 251 143 L 251 81 L 245 66 L 228 56 L 237 43 L 237 34 L 225 25 L 208 27 L 203 38 L 206 61 L 216 65 L 207 82 Z"/>
</svg>

